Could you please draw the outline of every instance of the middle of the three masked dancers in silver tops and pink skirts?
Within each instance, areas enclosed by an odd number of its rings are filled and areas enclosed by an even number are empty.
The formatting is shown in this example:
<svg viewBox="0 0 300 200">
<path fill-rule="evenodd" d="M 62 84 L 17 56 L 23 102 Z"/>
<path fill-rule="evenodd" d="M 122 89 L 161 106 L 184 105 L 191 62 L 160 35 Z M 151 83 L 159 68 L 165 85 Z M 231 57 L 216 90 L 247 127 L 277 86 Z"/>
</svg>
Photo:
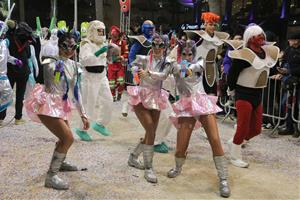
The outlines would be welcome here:
<svg viewBox="0 0 300 200">
<path fill-rule="evenodd" d="M 152 168 L 155 132 L 160 111 L 168 106 L 169 97 L 168 92 L 162 89 L 162 81 L 168 77 L 169 73 L 172 73 L 165 53 L 166 42 L 160 35 L 154 34 L 149 56 L 138 55 L 131 64 L 133 71 L 137 72 L 140 78 L 139 86 L 127 87 L 128 103 L 146 131 L 144 139 L 141 139 L 130 153 L 128 165 L 145 169 L 144 177 L 151 183 L 157 182 Z M 136 77 L 136 74 L 134 76 Z M 143 153 L 144 165 L 138 160 L 141 153 Z"/>
</svg>

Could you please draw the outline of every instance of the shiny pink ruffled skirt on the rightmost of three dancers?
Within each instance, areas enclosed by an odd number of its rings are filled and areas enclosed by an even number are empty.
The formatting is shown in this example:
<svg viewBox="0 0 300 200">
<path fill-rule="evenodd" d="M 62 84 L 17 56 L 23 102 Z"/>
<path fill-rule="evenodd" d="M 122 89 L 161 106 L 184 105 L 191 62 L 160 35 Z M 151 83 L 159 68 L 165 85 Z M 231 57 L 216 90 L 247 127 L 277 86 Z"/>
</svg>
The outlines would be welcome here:
<svg viewBox="0 0 300 200">
<path fill-rule="evenodd" d="M 173 113 L 170 120 L 176 128 L 179 128 L 179 117 L 195 117 L 198 119 L 201 115 L 209 115 L 222 111 L 217 106 L 218 97 L 207 95 L 204 92 L 197 92 L 189 97 L 181 97 L 180 100 L 172 104 Z M 196 121 L 194 129 L 200 128 L 201 123 Z"/>
</svg>

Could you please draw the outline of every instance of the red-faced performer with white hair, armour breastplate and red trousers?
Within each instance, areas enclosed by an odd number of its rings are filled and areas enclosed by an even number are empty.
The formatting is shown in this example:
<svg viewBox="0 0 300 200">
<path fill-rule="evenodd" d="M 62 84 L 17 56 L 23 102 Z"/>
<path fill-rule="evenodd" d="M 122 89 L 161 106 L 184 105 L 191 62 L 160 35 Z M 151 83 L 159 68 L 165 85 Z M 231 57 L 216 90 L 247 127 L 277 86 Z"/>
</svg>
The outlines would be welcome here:
<svg viewBox="0 0 300 200">
<path fill-rule="evenodd" d="M 242 49 L 228 53 L 233 59 L 227 76 L 228 93 L 235 96 L 237 111 L 237 129 L 228 144 L 230 161 L 237 167 L 249 166 L 242 160 L 241 145 L 261 132 L 262 90 L 279 55 L 279 48 L 265 45 L 266 35 L 257 25 L 245 30 L 243 40 Z"/>
</svg>

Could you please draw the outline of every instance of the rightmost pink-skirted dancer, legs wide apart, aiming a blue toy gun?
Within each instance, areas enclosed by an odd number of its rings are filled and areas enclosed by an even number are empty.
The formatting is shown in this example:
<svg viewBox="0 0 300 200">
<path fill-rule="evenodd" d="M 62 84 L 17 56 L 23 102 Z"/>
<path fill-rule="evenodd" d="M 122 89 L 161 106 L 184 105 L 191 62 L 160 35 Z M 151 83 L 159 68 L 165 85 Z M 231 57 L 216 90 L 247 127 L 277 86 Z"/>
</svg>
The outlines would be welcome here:
<svg viewBox="0 0 300 200">
<path fill-rule="evenodd" d="M 169 178 L 181 173 L 186 159 L 187 148 L 193 129 L 202 125 L 213 151 L 213 158 L 220 178 L 220 195 L 230 196 L 227 178 L 227 161 L 221 145 L 215 113 L 220 112 L 217 97 L 204 92 L 202 75 L 205 68 L 203 60 L 195 61 L 196 45 L 192 40 L 181 40 L 178 45 L 180 74 L 174 74 L 180 99 L 173 104 L 174 113 L 170 117 L 177 128 L 176 166 L 168 172 Z"/>
</svg>

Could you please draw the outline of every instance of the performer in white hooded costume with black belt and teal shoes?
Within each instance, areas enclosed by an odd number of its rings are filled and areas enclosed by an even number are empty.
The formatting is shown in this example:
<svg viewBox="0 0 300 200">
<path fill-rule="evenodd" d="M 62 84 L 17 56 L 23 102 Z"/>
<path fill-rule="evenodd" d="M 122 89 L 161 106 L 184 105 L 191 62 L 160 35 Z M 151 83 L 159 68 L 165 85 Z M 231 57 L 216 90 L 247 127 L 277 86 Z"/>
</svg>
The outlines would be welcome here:
<svg viewBox="0 0 300 200">
<path fill-rule="evenodd" d="M 83 104 L 94 121 L 92 128 L 104 136 L 111 135 L 106 126 L 111 119 L 113 102 L 106 77 L 107 48 L 104 23 L 97 20 L 90 22 L 79 53 L 80 63 L 84 66 Z M 85 130 L 77 128 L 75 131 L 82 140 L 92 140 Z"/>
</svg>

